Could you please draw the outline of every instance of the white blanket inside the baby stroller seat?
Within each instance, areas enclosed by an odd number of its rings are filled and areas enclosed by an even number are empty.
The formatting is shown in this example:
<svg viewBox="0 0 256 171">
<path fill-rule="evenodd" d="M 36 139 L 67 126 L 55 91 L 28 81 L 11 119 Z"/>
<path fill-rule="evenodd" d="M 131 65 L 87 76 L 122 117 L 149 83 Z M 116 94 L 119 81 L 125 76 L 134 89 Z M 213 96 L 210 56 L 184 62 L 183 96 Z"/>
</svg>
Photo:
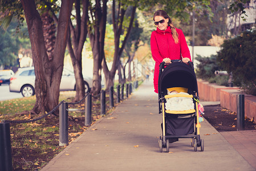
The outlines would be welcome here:
<svg viewBox="0 0 256 171">
<path fill-rule="evenodd" d="M 180 93 L 169 93 L 169 95 L 183 94 L 189 95 L 185 92 Z M 165 109 L 169 111 L 186 111 L 194 109 L 193 99 L 189 97 L 172 97 L 166 99 Z"/>
</svg>

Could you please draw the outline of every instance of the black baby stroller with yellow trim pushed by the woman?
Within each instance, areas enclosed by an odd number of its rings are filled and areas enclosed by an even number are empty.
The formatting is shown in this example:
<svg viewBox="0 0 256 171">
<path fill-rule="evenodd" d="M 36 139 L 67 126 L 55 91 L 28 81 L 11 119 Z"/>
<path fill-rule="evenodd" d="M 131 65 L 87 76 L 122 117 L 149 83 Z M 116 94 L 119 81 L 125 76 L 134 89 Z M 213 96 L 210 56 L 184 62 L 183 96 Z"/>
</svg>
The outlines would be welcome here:
<svg viewBox="0 0 256 171">
<path fill-rule="evenodd" d="M 189 95 L 168 95 L 168 90 L 187 91 Z M 193 109 L 185 111 L 169 111 L 165 109 L 166 99 L 173 97 L 188 97 L 192 98 L 194 105 Z M 191 100 L 191 99 L 190 99 Z M 169 143 L 178 139 L 191 139 L 191 146 L 194 151 L 201 146 L 201 151 L 204 150 L 204 140 L 200 139 L 200 123 L 198 111 L 198 88 L 196 74 L 194 73 L 193 63 L 183 63 L 181 60 L 172 60 L 168 66 L 165 63 L 160 64 L 159 71 L 159 113 L 162 114 L 162 136 L 159 137 L 159 148 L 166 147 L 166 152 L 169 152 Z"/>
</svg>

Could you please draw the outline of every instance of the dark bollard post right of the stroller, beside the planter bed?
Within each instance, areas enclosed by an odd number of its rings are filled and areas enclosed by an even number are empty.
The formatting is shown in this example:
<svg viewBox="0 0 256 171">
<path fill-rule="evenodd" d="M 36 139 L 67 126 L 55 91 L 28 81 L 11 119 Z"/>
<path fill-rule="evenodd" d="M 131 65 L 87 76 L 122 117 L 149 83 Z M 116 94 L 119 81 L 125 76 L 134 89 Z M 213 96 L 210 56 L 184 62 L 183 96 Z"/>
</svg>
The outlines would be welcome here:
<svg viewBox="0 0 256 171">
<path fill-rule="evenodd" d="M 237 95 L 237 131 L 245 129 L 245 95 Z"/>
</svg>

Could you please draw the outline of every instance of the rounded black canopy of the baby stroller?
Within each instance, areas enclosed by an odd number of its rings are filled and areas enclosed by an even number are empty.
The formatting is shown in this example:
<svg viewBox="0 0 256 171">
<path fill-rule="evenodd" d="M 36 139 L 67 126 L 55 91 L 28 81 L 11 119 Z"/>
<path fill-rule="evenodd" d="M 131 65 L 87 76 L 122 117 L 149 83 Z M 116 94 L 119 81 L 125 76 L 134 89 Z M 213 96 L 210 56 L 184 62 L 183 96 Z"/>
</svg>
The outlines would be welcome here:
<svg viewBox="0 0 256 171">
<path fill-rule="evenodd" d="M 188 88 L 188 93 L 197 89 L 197 78 L 194 70 L 188 64 L 174 62 L 169 64 L 159 78 L 159 92 L 167 93 L 166 88 L 184 87 Z"/>
</svg>

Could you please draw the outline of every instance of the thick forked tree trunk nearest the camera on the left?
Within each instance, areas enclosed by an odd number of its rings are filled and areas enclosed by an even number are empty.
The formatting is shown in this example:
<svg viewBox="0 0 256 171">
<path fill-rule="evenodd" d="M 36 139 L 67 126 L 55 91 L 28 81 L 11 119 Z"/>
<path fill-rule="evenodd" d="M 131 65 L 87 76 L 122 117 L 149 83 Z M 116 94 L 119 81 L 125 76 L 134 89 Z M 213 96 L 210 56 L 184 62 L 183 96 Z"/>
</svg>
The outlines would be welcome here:
<svg viewBox="0 0 256 171">
<path fill-rule="evenodd" d="M 68 19 L 70 18 L 72 1 L 63 1 L 60 7 L 58 33 L 54 48 L 54 56 L 50 61 L 44 44 L 42 20 L 36 10 L 35 1 L 21 1 L 29 37 L 32 59 L 35 68 L 36 102 L 32 111 L 35 113 L 50 112 L 59 101 L 59 85 L 62 77 L 64 52 L 67 44 Z M 55 112 L 57 114 L 58 112 Z"/>
</svg>

